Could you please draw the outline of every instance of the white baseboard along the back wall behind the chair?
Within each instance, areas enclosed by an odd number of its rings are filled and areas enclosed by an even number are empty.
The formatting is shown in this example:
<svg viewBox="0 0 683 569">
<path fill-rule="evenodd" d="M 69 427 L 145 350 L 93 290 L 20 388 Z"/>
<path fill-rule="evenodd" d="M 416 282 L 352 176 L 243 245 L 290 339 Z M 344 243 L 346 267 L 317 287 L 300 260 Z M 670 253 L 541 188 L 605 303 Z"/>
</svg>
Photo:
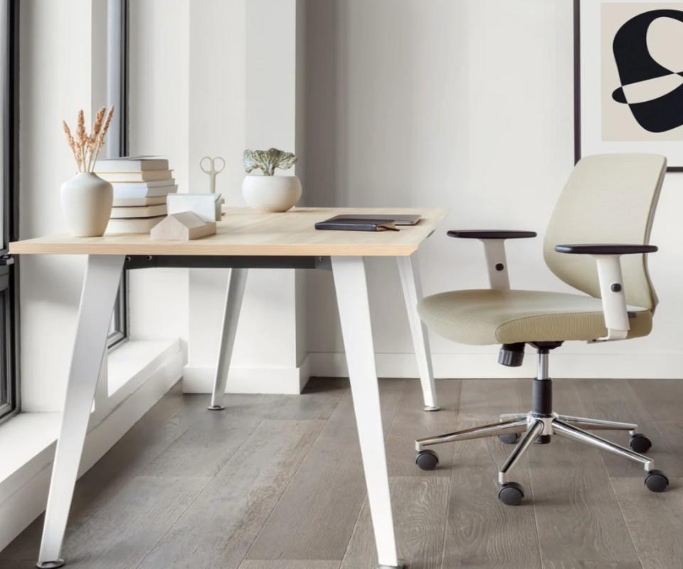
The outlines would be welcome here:
<svg viewBox="0 0 683 569">
<path fill-rule="evenodd" d="M 377 353 L 377 374 L 383 378 L 415 378 L 418 368 L 413 353 Z M 496 354 L 435 353 L 436 378 L 528 378 L 536 373 L 534 353 L 527 353 L 524 366 L 508 368 L 497 363 Z M 311 376 L 346 377 L 344 353 L 316 352 L 307 355 Z M 555 378 L 683 378 L 682 353 L 554 353 L 551 376 Z"/>
</svg>

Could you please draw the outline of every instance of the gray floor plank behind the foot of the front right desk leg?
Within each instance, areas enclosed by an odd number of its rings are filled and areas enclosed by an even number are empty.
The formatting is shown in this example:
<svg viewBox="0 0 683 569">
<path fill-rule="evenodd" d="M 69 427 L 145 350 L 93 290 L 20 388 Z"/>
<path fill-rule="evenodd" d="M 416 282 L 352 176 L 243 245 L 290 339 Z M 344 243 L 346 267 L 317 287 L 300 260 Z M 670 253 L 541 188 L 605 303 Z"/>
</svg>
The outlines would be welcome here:
<svg viewBox="0 0 683 569">
<path fill-rule="evenodd" d="M 435 477 L 391 479 L 398 558 L 411 569 L 439 569 L 443 554 L 450 480 Z M 346 550 L 342 569 L 375 569 L 377 550 L 366 500 Z"/>
</svg>

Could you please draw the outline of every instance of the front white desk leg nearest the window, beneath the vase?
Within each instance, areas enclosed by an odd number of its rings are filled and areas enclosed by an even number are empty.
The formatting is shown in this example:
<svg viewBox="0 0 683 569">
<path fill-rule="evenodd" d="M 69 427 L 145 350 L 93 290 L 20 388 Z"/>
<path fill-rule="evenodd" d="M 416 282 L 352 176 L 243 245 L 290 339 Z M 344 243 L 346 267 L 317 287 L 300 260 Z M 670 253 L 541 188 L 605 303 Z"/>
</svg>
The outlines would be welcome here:
<svg viewBox="0 0 683 569">
<path fill-rule="evenodd" d="M 61 567 L 73 488 L 125 257 L 89 255 L 37 566 Z"/>
</svg>

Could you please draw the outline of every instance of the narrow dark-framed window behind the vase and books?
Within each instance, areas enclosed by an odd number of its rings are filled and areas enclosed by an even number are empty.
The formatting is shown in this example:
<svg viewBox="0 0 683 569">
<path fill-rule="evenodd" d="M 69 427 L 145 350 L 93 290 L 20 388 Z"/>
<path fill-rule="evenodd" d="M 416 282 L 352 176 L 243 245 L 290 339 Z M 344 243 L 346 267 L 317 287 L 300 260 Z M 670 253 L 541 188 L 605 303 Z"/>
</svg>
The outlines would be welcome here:
<svg viewBox="0 0 683 569">
<path fill-rule="evenodd" d="M 115 105 L 118 120 L 107 134 L 108 158 L 128 154 L 128 0 L 107 4 L 107 107 Z M 128 336 L 126 272 L 121 277 L 107 346 L 111 349 Z"/>
</svg>

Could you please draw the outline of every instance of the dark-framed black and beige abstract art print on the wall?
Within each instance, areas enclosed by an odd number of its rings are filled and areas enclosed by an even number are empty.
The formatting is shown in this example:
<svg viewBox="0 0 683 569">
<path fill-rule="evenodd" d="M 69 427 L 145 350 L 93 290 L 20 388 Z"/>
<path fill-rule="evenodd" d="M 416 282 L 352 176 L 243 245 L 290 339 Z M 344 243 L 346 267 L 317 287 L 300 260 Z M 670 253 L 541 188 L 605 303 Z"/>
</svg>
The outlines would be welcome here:
<svg viewBox="0 0 683 569">
<path fill-rule="evenodd" d="M 683 1 L 574 0 L 575 158 L 663 154 L 683 171 Z"/>
</svg>

